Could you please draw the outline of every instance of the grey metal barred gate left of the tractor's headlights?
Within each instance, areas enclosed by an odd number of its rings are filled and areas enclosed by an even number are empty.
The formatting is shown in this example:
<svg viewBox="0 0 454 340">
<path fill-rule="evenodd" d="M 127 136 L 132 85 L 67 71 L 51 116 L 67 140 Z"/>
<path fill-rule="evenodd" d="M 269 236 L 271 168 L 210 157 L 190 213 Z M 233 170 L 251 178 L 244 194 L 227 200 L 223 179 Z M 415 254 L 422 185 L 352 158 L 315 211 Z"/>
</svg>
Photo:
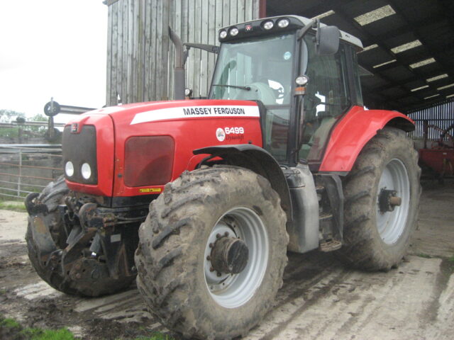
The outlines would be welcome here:
<svg viewBox="0 0 454 340">
<path fill-rule="evenodd" d="M 0 198 L 23 199 L 61 174 L 61 145 L 0 145 Z"/>
</svg>

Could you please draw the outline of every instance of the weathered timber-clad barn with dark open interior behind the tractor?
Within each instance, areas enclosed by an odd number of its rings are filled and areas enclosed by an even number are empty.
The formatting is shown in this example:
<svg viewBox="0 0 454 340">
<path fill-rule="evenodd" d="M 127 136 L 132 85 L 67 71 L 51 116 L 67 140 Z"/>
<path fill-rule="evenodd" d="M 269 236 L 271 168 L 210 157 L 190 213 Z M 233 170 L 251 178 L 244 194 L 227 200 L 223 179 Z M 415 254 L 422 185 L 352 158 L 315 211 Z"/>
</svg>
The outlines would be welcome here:
<svg viewBox="0 0 454 340">
<path fill-rule="evenodd" d="M 109 6 L 107 105 L 173 98 L 175 51 L 183 42 L 219 45 L 218 30 L 265 16 L 320 18 L 360 38 L 362 97 L 416 123 L 412 137 L 435 176 L 453 176 L 454 3 L 448 0 L 106 0 Z M 216 57 L 192 48 L 186 84 L 207 96 Z M 432 149 L 443 149 L 442 152 Z"/>
</svg>

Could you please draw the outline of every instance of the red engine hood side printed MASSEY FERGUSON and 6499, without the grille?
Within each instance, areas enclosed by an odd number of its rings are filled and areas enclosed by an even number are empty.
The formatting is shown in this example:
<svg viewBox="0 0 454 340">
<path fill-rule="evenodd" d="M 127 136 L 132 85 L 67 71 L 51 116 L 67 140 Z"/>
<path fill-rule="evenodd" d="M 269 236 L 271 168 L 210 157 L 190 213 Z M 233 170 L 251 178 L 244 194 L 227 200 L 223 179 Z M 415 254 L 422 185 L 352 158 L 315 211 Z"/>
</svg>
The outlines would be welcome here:
<svg viewBox="0 0 454 340">
<path fill-rule="evenodd" d="M 145 190 L 146 188 L 163 188 L 163 186 L 130 187 L 124 183 L 125 145 L 130 137 L 170 136 L 175 140 L 175 158 L 171 181 L 177 179 L 184 170 L 194 169 L 198 163 L 195 161 L 204 158 L 203 155 L 194 158 L 194 154 L 192 154 L 194 149 L 214 145 L 247 144 L 249 142 L 262 147 L 262 132 L 258 117 L 191 115 L 184 118 L 133 123 L 137 121 L 139 113 L 151 112 L 150 118 L 153 119 L 153 111 L 172 108 L 181 110 L 181 108 L 189 106 L 194 108 L 211 107 L 212 110 L 213 106 L 231 108 L 250 106 L 257 108 L 257 104 L 252 101 L 194 100 L 140 103 L 101 109 L 100 111 L 109 113 L 113 118 L 116 133 L 113 196 L 146 195 L 150 193 Z M 170 113 L 172 112 L 170 111 Z M 224 131 L 223 140 L 222 137 L 218 136 L 219 128 Z M 236 133 L 241 131 L 242 133 Z M 143 152 L 153 153 L 153 150 L 143 150 Z M 140 191 L 140 189 L 143 190 Z M 159 193 L 159 191 L 155 192 Z"/>
</svg>

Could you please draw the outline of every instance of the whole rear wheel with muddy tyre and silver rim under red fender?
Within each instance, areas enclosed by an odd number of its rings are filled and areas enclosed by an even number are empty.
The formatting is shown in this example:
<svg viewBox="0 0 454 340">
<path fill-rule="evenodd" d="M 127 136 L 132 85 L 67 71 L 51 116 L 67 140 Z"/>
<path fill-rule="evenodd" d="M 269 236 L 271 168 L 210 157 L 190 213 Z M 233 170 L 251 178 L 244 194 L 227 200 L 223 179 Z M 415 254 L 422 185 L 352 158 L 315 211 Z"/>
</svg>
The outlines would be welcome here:
<svg viewBox="0 0 454 340">
<path fill-rule="evenodd" d="M 378 131 L 343 183 L 341 259 L 367 271 L 399 265 L 416 225 L 420 175 L 418 154 L 405 132 Z"/>
</svg>

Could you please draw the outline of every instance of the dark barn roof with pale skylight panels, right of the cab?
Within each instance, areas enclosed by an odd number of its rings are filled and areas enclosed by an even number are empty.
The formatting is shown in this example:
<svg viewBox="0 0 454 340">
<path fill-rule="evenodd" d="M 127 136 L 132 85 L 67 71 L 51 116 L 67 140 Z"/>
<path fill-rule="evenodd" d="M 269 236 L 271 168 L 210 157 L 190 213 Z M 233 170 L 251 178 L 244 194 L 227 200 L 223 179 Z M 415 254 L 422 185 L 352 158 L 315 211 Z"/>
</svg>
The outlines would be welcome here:
<svg viewBox="0 0 454 340">
<path fill-rule="evenodd" d="M 355 35 L 365 47 L 375 47 L 358 55 L 362 67 L 374 74 L 362 79 L 368 107 L 409 112 L 454 95 L 454 86 L 448 86 L 454 83 L 452 0 L 266 2 L 267 16 L 323 14 L 323 23 Z"/>
</svg>

